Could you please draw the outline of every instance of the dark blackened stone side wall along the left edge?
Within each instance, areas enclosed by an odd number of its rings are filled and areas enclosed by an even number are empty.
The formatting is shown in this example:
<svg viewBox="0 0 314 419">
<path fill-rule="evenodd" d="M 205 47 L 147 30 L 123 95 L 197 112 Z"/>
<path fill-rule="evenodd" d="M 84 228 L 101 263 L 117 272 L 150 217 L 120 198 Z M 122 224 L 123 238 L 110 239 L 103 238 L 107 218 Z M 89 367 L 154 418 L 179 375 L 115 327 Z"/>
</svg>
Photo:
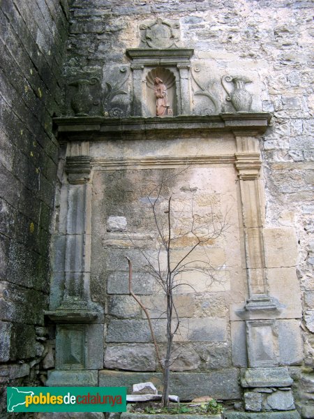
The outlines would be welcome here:
<svg viewBox="0 0 314 419">
<path fill-rule="evenodd" d="M 52 116 L 60 115 L 66 13 L 66 1 L 0 4 L 1 387 L 31 385 L 40 369 L 53 366 L 51 351 L 45 357 L 43 311 L 58 161 Z"/>
</svg>

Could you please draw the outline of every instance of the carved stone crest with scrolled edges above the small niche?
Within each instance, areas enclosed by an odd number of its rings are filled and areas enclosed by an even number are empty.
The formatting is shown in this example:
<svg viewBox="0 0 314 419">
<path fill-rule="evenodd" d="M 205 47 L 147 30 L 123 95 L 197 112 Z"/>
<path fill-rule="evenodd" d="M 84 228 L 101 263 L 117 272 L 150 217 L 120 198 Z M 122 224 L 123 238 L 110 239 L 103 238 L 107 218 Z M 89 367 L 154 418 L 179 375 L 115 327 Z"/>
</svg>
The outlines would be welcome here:
<svg viewBox="0 0 314 419">
<path fill-rule="evenodd" d="M 179 22 L 157 19 L 140 25 L 141 47 L 174 48 L 180 41 Z"/>
</svg>

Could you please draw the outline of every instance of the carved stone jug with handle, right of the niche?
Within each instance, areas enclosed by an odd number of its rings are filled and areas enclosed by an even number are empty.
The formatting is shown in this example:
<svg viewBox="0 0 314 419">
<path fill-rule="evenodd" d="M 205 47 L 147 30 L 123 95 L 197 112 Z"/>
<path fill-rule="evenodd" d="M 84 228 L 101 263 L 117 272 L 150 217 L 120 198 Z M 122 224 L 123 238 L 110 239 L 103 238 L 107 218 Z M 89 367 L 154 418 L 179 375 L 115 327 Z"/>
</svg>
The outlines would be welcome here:
<svg viewBox="0 0 314 419">
<path fill-rule="evenodd" d="M 234 89 L 231 93 L 227 87 L 227 82 L 233 82 L 234 84 Z M 234 105 L 237 112 L 248 112 L 251 110 L 252 95 L 246 90 L 246 83 L 252 83 L 252 80 L 238 75 L 234 77 L 225 75 L 221 79 L 221 83 L 228 94 L 226 100 Z"/>
</svg>

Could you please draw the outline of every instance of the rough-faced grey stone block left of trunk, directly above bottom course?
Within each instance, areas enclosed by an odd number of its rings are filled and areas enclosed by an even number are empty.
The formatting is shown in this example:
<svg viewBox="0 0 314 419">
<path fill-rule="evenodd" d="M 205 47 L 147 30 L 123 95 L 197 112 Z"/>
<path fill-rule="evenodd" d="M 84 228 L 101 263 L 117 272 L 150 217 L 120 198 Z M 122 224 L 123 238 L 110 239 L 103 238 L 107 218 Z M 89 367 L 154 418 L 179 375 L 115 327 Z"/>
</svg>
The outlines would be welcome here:
<svg viewBox="0 0 314 419">
<path fill-rule="evenodd" d="M 128 369 L 130 371 L 155 371 L 155 348 L 152 344 L 108 345 L 105 349 L 105 368 Z"/>
</svg>

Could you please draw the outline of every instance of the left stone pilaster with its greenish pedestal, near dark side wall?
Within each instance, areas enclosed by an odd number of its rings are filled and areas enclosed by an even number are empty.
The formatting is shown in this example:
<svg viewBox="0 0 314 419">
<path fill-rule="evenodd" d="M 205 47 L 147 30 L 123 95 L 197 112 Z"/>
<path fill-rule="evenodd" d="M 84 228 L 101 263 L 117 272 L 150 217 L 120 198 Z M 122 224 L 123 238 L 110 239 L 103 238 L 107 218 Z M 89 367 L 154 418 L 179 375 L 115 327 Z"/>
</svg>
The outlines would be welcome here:
<svg viewBox="0 0 314 419">
<path fill-rule="evenodd" d="M 88 142 L 69 142 L 59 232 L 65 236 L 63 296 L 47 315 L 57 323 L 56 370 L 47 385 L 97 385 L 103 365 L 102 309 L 91 301 L 91 161 Z M 62 254 L 62 251 L 61 251 Z"/>
</svg>

